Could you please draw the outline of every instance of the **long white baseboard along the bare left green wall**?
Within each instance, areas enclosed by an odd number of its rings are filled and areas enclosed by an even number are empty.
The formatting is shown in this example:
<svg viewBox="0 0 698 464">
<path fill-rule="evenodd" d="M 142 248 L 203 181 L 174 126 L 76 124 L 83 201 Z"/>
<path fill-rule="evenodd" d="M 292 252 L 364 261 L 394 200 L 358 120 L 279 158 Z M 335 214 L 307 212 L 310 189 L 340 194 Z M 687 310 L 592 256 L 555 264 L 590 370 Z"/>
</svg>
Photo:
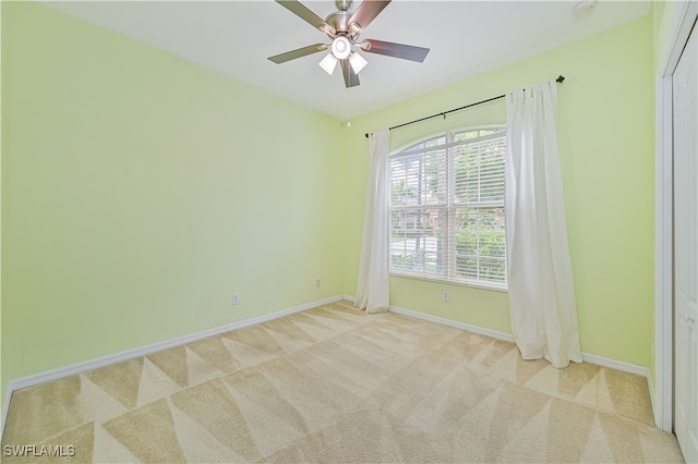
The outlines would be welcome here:
<svg viewBox="0 0 698 464">
<path fill-rule="evenodd" d="M 145 356 L 148 354 L 156 353 L 158 351 L 170 349 L 172 346 L 192 343 L 208 337 L 217 335 L 219 333 L 242 329 L 243 327 L 254 326 L 256 323 L 266 322 L 273 319 L 278 319 L 279 317 L 288 316 L 293 313 L 300 313 L 302 310 L 311 309 L 316 306 L 322 306 L 329 303 L 336 303 L 345 298 L 346 297 L 344 295 L 333 296 L 330 298 L 306 303 L 306 304 L 294 306 L 288 309 L 281 309 L 275 313 L 269 313 L 262 316 L 253 317 L 251 319 L 245 319 L 238 322 L 228 323 L 226 326 L 220 326 L 213 329 L 204 330 L 201 332 L 191 333 L 189 335 L 178 337 L 176 339 L 153 343 L 147 346 L 127 350 L 120 353 L 115 353 L 107 356 L 98 357 L 96 359 L 85 361 L 83 363 L 77 363 L 70 366 L 60 367 L 58 369 L 48 370 L 46 373 L 39 373 L 32 376 L 14 379 L 8 386 L 5 400 L 4 400 L 4 403 L 2 404 L 2 423 L 0 424 L 0 437 L 2 436 L 2 431 L 4 430 L 4 424 L 8 418 L 8 411 L 10 408 L 10 400 L 12 399 L 12 393 L 14 391 L 17 391 L 27 387 L 33 387 L 39 383 L 58 380 L 63 377 L 73 376 L 75 374 L 85 373 L 87 370 L 93 370 L 100 367 L 109 366 L 111 364 L 120 363 L 122 361 L 131 359 L 134 357 Z"/>
</svg>

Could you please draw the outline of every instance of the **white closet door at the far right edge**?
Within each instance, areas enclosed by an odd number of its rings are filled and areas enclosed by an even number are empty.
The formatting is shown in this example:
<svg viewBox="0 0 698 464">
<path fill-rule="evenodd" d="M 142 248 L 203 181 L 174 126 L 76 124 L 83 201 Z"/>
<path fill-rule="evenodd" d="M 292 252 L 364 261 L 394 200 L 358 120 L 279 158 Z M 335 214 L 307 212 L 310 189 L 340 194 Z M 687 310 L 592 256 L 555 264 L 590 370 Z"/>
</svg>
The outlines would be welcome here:
<svg viewBox="0 0 698 464">
<path fill-rule="evenodd" d="M 674 431 L 698 462 L 698 33 L 672 77 L 674 115 Z"/>
</svg>

